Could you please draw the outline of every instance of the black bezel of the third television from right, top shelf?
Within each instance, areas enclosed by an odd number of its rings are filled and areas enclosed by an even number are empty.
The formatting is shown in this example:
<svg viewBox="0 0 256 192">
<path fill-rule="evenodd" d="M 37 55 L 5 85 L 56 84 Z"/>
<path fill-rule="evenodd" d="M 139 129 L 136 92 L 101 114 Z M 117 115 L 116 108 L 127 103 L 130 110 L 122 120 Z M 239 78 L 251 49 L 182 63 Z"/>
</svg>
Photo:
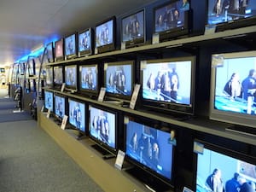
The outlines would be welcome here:
<svg viewBox="0 0 256 192">
<path fill-rule="evenodd" d="M 137 14 L 140 14 L 143 12 L 143 38 L 134 38 L 134 39 L 131 39 L 131 40 L 127 40 L 127 41 L 124 41 L 124 30 L 125 30 L 125 26 L 124 26 L 124 23 L 123 23 L 123 20 L 133 16 L 133 15 L 137 15 Z M 120 29 L 120 37 L 121 37 L 121 42 L 125 43 L 125 48 L 131 48 L 131 47 L 135 47 L 135 46 L 138 46 L 138 45 L 142 45 L 142 44 L 145 44 L 146 43 L 146 10 L 145 9 L 140 9 L 136 12 L 133 12 L 132 14 L 129 14 L 129 15 L 125 15 L 123 18 L 121 18 L 121 29 Z"/>
</svg>

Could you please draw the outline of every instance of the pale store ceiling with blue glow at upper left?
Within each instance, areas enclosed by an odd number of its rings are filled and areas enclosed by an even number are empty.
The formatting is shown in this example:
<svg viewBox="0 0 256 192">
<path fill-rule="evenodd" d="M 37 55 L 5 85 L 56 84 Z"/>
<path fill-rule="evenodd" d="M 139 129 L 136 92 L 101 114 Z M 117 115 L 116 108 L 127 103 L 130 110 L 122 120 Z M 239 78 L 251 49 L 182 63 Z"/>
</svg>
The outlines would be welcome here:
<svg viewBox="0 0 256 192">
<path fill-rule="evenodd" d="M 113 15 L 156 0 L 5 0 L 0 2 L 0 66 Z"/>
</svg>

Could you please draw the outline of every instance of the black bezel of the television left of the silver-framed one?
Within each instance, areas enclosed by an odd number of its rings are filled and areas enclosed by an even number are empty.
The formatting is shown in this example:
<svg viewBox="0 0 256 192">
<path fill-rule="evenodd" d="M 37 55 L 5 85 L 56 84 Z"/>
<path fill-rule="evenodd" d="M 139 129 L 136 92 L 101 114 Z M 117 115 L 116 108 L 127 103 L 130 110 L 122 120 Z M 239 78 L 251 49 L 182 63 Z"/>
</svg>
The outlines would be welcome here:
<svg viewBox="0 0 256 192">
<path fill-rule="evenodd" d="M 160 62 L 177 62 L 177 61 L 191 61 L 191 79 L 190 79 L 190 104 L 176 103 L 176 102 L 161 102 L 157 100 L 151 100 L 143 98 L 143 69 L 142 64 L 140 66 L 141 73 L 141 84 L 142 84 L 142 93 L 141 95 L 141 105 L 146 108 L 153 108 L 162 113 L 171 113 L 173 115 L 178 114 L 195 114 L 195 68 L 196 68 L 196 56 L 183 56 L 183 57 L 172 57 L 156 60 L 148 60 L 147 64 L 160 63 Z"/>
</svg>

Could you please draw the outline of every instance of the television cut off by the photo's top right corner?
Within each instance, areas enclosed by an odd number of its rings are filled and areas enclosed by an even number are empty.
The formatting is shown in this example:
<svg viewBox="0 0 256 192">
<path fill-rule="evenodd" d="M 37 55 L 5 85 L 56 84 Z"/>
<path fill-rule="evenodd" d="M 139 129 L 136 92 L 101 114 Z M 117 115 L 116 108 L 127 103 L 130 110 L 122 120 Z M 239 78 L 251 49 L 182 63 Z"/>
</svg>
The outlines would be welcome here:
<svg viewBox="0 0 256 192">
<path fill-rule="evenodd" d="M 216 26 L 216 32 L 256 24 L 255 1 L 208 0 L 207 25 Z"/>
</svg>

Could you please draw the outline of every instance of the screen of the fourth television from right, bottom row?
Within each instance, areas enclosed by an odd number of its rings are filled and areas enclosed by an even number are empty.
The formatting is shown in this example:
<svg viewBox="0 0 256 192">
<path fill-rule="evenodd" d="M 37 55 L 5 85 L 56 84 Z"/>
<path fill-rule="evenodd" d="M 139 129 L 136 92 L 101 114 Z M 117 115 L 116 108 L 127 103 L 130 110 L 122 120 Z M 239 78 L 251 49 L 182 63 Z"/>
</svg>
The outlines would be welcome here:
<svg viewBox="0 0 256 192">
<path fill-rule="evenodd" d="M 69 124 L 73 125 L 79 131 L 85 132 L 85 104 L 83 102 L 78 102 L 69 98 L 68 106 Z"/>
</svg>

